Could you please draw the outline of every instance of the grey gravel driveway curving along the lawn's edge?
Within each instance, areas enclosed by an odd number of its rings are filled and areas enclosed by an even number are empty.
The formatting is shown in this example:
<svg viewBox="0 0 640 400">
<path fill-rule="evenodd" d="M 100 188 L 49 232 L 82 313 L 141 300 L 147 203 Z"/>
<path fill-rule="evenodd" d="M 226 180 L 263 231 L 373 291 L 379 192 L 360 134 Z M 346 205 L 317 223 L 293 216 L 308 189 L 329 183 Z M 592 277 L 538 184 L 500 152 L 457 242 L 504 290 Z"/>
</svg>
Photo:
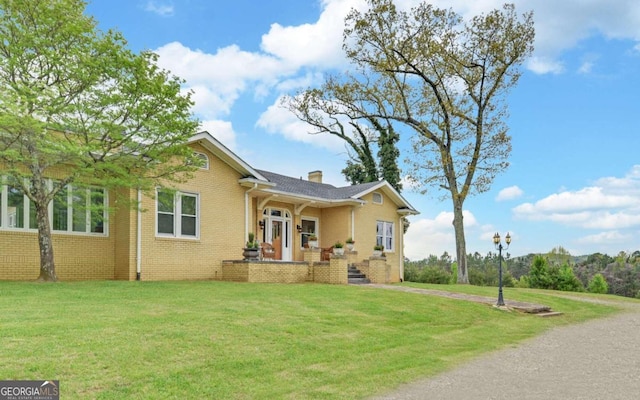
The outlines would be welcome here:
<svg viewBox="0 0 640 400">
<path fill-rule="evenodd" d="M 640 306 L 553 329 L 382 399 L 640 399 Z"/>
</svg>

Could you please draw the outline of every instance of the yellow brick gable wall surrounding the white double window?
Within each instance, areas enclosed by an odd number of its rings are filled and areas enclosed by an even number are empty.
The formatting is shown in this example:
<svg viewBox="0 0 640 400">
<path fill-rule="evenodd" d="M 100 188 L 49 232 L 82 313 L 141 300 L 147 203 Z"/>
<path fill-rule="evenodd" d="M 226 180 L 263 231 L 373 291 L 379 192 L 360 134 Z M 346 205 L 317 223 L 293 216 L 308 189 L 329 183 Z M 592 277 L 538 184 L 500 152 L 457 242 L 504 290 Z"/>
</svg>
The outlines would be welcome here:
<svg viewBox="0 0 640 400">
<path fill-rule="evenodd" d="M 142 215 L 142 280 L 222 279 L 222 261 L 242 258 L 244 193 L 240 175 L 203 148 L 209 169 L 198 170 L 178 189 L 199 195 L 197 239 L 156 235 L 155 200 L 145 196 Z"/>
</svg>

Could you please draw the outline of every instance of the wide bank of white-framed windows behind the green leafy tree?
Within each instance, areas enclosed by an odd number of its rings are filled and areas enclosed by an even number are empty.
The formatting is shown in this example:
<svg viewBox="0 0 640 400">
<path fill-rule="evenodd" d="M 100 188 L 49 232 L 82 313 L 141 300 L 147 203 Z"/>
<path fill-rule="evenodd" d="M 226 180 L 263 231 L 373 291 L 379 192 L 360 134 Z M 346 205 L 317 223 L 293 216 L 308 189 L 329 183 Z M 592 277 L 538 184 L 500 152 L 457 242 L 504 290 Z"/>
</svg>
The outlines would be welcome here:
<svg viewBox="0 0 640 400">
<path fill-rule="evenodd" d="M 49 182 L 51 184 L 51 182 Z M 50 186 L 51 187 L 51 186 Z M 17 185 L 0 188 L 2 228 L 38 229 L 35 204 Z M 67 185 L 48 206 L 53 232 L 107 233 L 107 192 L 102 188 Z M 6 204 L 6 207 L 2 207 Z"/>
</svg>

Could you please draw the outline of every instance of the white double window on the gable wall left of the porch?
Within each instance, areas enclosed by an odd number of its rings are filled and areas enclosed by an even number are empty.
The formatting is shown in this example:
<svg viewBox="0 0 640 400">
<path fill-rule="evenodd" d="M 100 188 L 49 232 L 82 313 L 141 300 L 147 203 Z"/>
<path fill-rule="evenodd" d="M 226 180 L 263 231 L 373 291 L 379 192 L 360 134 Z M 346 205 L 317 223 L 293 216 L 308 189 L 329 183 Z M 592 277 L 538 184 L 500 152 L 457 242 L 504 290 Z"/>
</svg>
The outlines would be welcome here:
<svg viewBox="0 0 640 400">
<path fill-rule="evenodd" d="M 197 194 L 158 190 L 156 194 L 158 235 L 198 237 L 198 209 Z"/>
</svg>

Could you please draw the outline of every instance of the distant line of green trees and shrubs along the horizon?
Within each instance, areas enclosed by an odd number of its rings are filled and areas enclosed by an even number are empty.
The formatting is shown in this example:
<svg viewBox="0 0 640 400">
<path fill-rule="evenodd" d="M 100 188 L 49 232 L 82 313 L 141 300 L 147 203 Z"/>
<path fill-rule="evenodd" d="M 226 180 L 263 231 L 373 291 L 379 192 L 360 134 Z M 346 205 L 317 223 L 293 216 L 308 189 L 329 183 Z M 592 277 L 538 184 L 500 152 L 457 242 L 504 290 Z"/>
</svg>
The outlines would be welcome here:
<svg viewBox="0 0 640 400">
<path fill-rule="evenodd" d="M 498 286 L 498 253 L 468 254 L 469 283 Z M 405 280 L 453 284 L 457 266 L 447 252 L 420 261 L 405 260 Z M 621 251 L 616 257 L 602 253 L 574 257 L 563 247 L 546 254 L 511 258 L 503 255 L 502 284 L 572 292 L 588 291 L 640 298 L 640 250 Z"/>
</svg>

